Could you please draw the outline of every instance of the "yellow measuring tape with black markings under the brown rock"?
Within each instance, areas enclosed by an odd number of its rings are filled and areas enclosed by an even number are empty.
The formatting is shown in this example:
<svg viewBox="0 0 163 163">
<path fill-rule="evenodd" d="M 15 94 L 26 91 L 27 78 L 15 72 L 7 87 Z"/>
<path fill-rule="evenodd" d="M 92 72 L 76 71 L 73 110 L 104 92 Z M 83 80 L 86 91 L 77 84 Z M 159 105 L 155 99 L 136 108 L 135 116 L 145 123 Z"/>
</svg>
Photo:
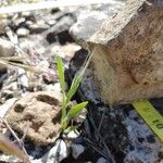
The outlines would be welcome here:
<svg viewBox="0 0 163 163">
<path fill-rule="evenodd" d="M 133 105 L 154 134 L 163 141 L 163 116 L 148 100 L 136 101 Z"/>
</svg>

